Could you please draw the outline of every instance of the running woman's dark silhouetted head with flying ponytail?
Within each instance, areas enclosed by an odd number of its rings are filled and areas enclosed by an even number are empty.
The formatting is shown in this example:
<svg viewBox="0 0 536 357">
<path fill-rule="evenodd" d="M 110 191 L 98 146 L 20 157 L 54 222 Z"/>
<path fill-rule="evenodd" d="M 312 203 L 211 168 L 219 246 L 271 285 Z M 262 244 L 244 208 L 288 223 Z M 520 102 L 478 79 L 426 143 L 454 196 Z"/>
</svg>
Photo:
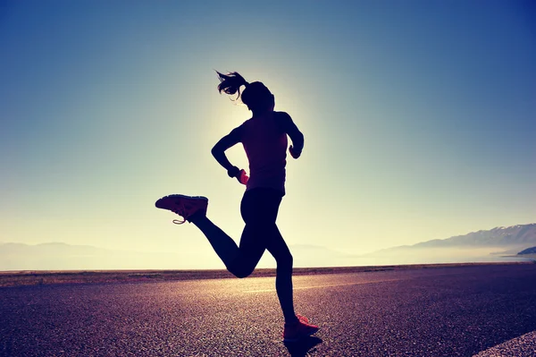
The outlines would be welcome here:
<svg viewBox="0 0 536 357">
<path fill-rule="evenodd" d="M 273 110 L 275 106 L 275 99 L 272 92 L 262 82 L 254 81 L 248 83 L 239 72 L 230 72 L 227 74 L 218 73 L 220 84 L 218 85 L 218 91 L 226 94 L 239 93 L 240 87 L 246 88 L 241 93 L 242 103 L 244 103 L 252 112 L 261 113 L 267 110 Z"/>
</svg>

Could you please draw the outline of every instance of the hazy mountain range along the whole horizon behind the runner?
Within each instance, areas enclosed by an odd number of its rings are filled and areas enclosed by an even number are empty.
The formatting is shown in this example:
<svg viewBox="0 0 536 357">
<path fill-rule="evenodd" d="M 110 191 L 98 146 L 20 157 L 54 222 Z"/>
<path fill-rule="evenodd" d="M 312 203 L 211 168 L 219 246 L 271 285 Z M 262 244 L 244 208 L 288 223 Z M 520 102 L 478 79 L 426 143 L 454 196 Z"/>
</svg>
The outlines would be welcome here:
<svg viewBox="0 0 536 357">
<path fill-rule="evenodd" d="M 508 260 L 505 256 L 536 249 L 536 224 L 497 227 L 414 245 L 357 255 L 315 245 L 291 245 L 295 267 L 344 267 L 434 264 Z M 529 254 L 529 252 L 523 254 Z M 268 254 L 265 254 L 265 256 Z M 89 245 L 49 242 L 36 245 L 0 243 L 1 270 L 192 269 L 223 268 L 214 251 L 113 251 Z M 271 258 L 259 267 L 273 266 Z"/>
</svg>

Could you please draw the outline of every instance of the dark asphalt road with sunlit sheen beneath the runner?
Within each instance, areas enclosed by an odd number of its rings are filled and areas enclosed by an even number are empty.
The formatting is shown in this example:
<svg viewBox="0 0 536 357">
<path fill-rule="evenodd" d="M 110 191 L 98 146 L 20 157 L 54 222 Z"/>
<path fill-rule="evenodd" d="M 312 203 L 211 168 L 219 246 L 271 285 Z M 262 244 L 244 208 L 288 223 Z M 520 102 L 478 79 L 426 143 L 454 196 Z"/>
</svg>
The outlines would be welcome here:
<svg viewBox="0 0 536 357">
<path fill-rule="evenodd" d="M 2 288 L 0 355 L 536 355 L 535 264 L 294 283 L 297 311 L 321 327 L 299 344 L 281 342 L 272 277 Z"/>
</svg>

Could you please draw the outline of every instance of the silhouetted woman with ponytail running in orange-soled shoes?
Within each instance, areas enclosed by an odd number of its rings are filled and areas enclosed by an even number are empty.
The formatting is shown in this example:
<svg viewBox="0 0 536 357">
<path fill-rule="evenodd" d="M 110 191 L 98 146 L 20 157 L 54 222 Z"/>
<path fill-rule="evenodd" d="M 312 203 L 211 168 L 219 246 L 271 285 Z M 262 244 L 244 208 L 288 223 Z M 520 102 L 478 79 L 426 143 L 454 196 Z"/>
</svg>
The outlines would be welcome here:
<svg viewBox="0 0 536 357">
<path fill-rule="evenodd" d="M 292 255 L 276 225 L 276 218 L 285 195 L 285 166 L 287 164 L 287 135 L 291 157 L 298 158 L 304 147 L 304 136 L 285 112 L 274 111 L 272 92 L 260 81 L 248 83 L 238 72 L 222 74 L 218 90 L 229 95 L 238 93 L 242 102 L 253 113 L 252 117 L 219 140 L 212 149 L 216 161 L 227 170 L 230 178 L 246 185 L 240 203 L 240 213 L 246 223 L 239 246 L 229 235 L 206 217 L 208 200 L 202 196 L 173 194 L 156 201 L 157 208 L 171 210 L 186 221 L 197 225 L 205 234 L 225 267 L 237 277 L 249 276 L 255 269 L 264 250 L 277 262 L 275 287 L 285 319 L 283 339 L 297 341 L 311 336 L 318 327 L 294 311 L 292 296 Z M 242 143 L 249 162 L 246 171 L 233 166 L 225 150 Z"/>
</svg>

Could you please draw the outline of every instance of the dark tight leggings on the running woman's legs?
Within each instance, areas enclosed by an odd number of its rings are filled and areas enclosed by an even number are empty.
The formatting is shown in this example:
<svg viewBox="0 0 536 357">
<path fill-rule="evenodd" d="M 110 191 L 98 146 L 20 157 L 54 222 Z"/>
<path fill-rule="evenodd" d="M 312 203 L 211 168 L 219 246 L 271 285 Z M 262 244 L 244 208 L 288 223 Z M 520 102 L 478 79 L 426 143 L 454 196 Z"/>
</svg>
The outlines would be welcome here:
<svg viewBox="0 0 536 357">
<path fill-rule="evenodd" d="M 282 192 L 257 188 L 246 191 L 240 213 L 246 226 L 238 246 L 229 235 L 205 216 L 191 217 L 191 222 L 205 234 L 225 267 L 234 276 L 249 276 L 264 250 L 270 251 L 277 262 L 275 287 L 286 322 L 294 322 L 292 300 L 292 255 L 275 224 Z"/>
</svg>

